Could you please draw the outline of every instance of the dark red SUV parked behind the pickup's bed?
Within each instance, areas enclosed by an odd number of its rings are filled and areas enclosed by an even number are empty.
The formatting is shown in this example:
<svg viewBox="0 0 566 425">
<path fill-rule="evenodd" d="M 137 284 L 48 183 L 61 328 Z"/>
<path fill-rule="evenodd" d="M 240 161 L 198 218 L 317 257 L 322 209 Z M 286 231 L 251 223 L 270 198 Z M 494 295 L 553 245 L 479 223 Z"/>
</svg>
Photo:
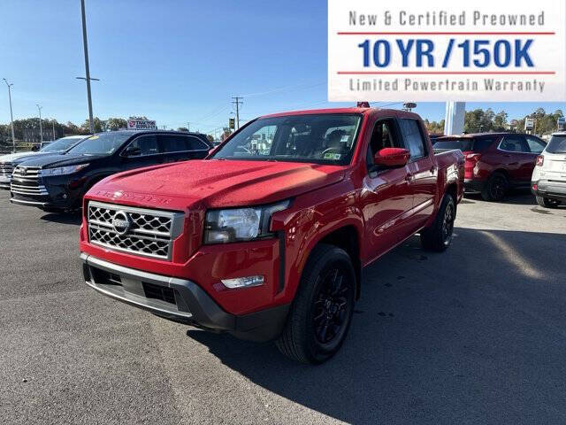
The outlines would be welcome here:
<svg viewBox="0 0 566 425">
<path fill-rule="evenodd" d="M 535 135 L 483 133 L 441 137 L 434 149 L 459 149 L 466 158 L 464 189 L 501 201 L 509 189 L 529 189 L 537 157 L 547 143 Z"/>
</svg>

